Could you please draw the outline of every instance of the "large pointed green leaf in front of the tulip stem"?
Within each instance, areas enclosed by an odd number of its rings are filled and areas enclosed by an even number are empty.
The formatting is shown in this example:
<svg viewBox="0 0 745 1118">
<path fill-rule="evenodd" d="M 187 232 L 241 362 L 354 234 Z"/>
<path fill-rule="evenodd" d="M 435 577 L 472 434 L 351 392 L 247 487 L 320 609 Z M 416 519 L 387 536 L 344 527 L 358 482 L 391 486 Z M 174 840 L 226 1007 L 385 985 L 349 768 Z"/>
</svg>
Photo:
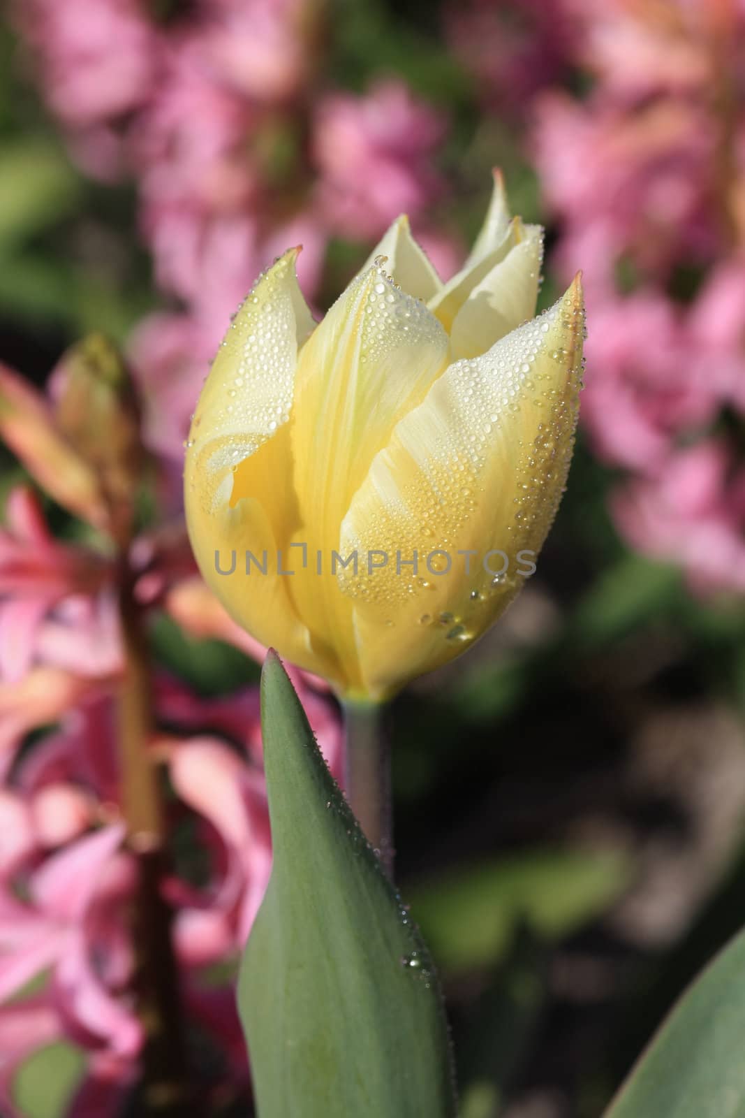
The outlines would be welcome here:
<svg viewBox="0 0 745 1118">
<path fill-rule="evenodd" d="M 261 676 L 271 880 L 239 1010 L 260 1118 L 451 1118 L 432 965 L 278 659 Z"/>
</svg>

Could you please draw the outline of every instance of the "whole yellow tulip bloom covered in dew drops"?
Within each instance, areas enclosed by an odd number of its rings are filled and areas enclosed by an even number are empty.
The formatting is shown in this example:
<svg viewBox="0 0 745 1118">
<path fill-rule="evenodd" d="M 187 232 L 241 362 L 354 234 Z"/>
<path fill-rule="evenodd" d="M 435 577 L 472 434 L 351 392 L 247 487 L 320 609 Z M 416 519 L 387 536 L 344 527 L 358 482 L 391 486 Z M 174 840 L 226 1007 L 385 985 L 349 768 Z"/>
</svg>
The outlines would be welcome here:
<svg viewBox="0 0 745 1118">
<path fill-rule="evenodd" d="M 542 230 L 509 219 L 498 174 L 445 285 L 401 217 L 316 324 L 297 252 L 259 277 L 206 381 L 189 532 L 243 628 L 376 701 L 468 647 L 535 569 L 572 454 L 582 292 L 526 321 Z"/>
</svg>

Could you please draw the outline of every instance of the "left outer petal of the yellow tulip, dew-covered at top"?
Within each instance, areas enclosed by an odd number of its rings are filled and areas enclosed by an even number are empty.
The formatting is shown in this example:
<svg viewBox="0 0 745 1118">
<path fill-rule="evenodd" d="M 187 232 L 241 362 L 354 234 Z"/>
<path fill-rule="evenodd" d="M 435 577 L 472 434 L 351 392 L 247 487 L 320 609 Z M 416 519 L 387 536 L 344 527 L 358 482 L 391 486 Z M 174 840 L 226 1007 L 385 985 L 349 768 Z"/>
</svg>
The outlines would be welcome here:
<svg viewBox="0 0 745 1118">
<path fill-rule="evenodd" d="M 296 256 L 285 253 L 259 278 L 214 359 L 189 437 L 184 499 L 197 562 L 230 616 L 317 669 L 288 580 L 246 574 L 246 552 L 259 562 L 266 552 L 274 565 L 296 523 L 287 417 L 298 348 L 313 326 Z"/>
</svg>

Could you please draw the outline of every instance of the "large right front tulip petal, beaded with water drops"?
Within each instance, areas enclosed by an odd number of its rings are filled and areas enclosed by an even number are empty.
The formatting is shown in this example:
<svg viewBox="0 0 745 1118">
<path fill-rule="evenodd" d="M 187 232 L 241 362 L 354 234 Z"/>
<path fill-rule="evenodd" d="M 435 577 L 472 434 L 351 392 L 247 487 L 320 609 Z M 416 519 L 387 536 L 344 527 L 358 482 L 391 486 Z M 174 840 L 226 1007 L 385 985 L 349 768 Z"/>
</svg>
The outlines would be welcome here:
<svg viewBox="0 0 745 1118">
<path fill-rule="evenodd" d="M 338 572 L 370 695 L 451 660 L 524 584 L 520 563 L 539 550 L 569 470 L 583 323 L 577 277 L 538 319 L 451 364 L 373 462 L 341 542 L 345 552 L 386 551 L 389 563 L 366 580 Z M 505 574 L 496 556 L 484 566 L 496 549 L 508 557 Z M 397 571 L 397 552 L 407 561 L 414 551 L 419 570 Z"/>
</svg>

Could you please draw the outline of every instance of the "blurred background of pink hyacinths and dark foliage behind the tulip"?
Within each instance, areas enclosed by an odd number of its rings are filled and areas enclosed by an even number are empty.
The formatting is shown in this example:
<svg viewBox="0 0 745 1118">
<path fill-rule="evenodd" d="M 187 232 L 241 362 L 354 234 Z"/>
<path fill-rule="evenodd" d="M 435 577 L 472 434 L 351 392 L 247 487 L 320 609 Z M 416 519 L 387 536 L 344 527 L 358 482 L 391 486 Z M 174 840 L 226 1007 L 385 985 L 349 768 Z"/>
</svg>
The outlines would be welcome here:
<svg viewBox="0 0 745 1118">
<path fill-rule="evenodd" d="M 537 575 L 390 712 L 398 878 L 462 1118 L 600 1115 L 745 922 L 745 4 L 11 0 L 0 54 L 6 1118 L 146 1111 L 123 600 L 182 1057 L 200 1114 L 251 1112 L 261 650 L 190 559 L 189 416 L 287 246 L 318 311 L 402 211 L 448 277 L 493 167 L 546 226 L 541 307 L 584 271 L 581 433 Z M 337 712 L 296 682 L 338 771 Z"/>
</svg>

